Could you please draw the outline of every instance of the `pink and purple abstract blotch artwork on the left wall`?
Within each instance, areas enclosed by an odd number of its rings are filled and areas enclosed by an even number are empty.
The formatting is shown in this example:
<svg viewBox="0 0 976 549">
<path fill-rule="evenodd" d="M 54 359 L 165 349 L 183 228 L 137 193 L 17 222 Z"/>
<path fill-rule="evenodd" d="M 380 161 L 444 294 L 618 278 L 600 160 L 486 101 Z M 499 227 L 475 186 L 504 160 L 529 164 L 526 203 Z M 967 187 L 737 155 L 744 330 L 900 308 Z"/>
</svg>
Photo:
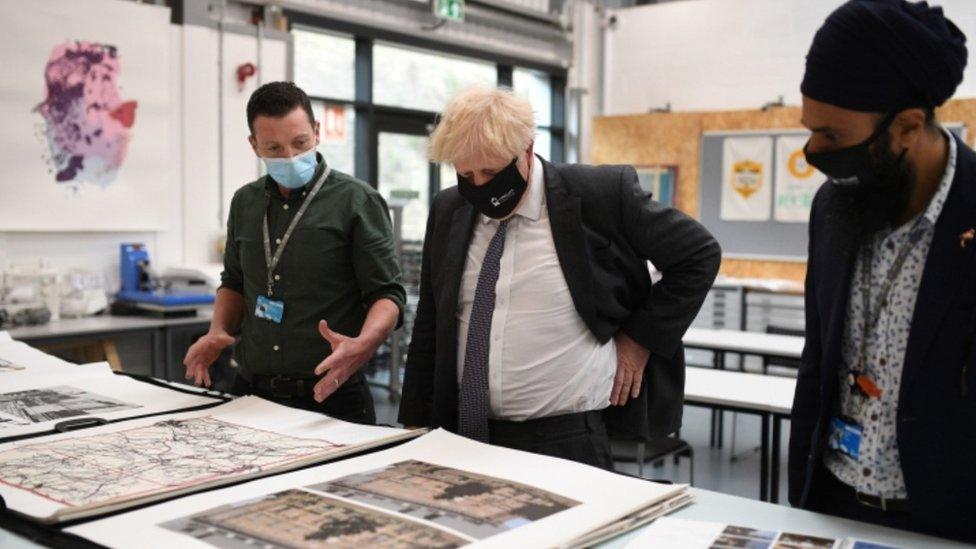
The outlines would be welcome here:
<svg viewBox="0 0 976 549">
<path fill-rule="evenodd" d="M 135 101 L 123 101 L 115 46 L 68 41 L 55 46 L 44 69 L 48 162 L 59 183 L 108 185 L 125 161 Z"/>
</svg>

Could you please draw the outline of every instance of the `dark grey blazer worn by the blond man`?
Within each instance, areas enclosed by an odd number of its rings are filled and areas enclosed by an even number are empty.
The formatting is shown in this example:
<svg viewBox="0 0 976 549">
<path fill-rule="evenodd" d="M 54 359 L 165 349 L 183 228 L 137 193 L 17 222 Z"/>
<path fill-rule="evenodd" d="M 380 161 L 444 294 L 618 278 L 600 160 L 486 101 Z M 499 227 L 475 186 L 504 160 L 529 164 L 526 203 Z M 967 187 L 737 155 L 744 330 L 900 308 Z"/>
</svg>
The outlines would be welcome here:
<svg viewBox="0 0 976 549">
<path fill-rule="evenodd" d="M 647 439 L 676 431 L 681 338 L 718 273 L 718 243 L 694 219 L 651 200 L 630 166 L 541 164 L 556 254 L 577 312 L 600 342 L 623 329 L 651 351 L 640 396 L 605 414 L 610 434 Z M 457 429 L 456 310 L 476 219 L 456 187 L 434 198 L 400 403 L 404 425 Z M 653 287 L 647 260 L 664 273 Z"/>
</svg>

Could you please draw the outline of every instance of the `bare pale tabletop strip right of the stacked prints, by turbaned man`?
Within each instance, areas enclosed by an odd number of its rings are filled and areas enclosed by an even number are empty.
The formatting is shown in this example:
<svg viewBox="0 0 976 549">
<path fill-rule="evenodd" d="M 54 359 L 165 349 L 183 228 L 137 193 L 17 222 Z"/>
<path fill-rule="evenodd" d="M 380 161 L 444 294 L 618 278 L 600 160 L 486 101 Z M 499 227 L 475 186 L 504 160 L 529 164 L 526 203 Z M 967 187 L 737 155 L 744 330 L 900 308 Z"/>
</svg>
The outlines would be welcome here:
<svg viewBox="0 0 976 549">
<path fill-rule="evenodd" d="M 720 494 L 708 490 L 689 488 L 695 496 L 695 503 L 669 515 L 677 518 L 723 522 L 738 526 L 748 526 L 760 530 L 779 530 L 810 534 L 827 538 L 854 537 L 866 541 L 885 543 L 896 547 L 912 549 L 935 549 L 972 547 L 960 542 L 923 536 L 903 530 L 875 526 L 830 515 L 812 513 L 784 505 L 773 505 L 759 501 Z M 602 544 L 601 549 L 621 549 L 636 537 L 640 529 L 624 534 Z M 0 539 L 2 542 L 2 539 Z"/>
</svg>

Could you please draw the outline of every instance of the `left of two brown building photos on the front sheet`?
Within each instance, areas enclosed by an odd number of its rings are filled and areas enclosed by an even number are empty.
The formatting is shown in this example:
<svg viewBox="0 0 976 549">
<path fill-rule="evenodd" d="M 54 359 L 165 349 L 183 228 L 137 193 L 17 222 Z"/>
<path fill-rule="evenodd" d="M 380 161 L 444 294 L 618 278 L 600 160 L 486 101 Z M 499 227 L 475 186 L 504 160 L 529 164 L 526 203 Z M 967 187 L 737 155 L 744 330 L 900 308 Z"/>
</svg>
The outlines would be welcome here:
<svg viewBox="0 0 976 549">
<path fill-rule="evenodd" d="M 469 543 L 422 522 L 304 490 L 222 505 L 160 526 L 221 549 L 452 548 Z"/>
</svg>

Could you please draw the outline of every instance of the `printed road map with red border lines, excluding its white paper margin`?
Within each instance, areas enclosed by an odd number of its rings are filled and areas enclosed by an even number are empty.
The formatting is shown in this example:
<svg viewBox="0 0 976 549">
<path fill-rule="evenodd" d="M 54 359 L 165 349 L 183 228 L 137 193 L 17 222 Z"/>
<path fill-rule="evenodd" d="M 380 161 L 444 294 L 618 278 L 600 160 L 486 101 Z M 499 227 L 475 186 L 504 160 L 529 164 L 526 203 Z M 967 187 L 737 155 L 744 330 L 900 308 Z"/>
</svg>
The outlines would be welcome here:
<svg viewBox="0 0 976 549">
<path fill-rule="evenodd" d="M 71 507 L 102 505 L 261 472 L 342 446 L 213 417 L 166 420 L 0 452 L 0 488 Z"/>
</svg>

